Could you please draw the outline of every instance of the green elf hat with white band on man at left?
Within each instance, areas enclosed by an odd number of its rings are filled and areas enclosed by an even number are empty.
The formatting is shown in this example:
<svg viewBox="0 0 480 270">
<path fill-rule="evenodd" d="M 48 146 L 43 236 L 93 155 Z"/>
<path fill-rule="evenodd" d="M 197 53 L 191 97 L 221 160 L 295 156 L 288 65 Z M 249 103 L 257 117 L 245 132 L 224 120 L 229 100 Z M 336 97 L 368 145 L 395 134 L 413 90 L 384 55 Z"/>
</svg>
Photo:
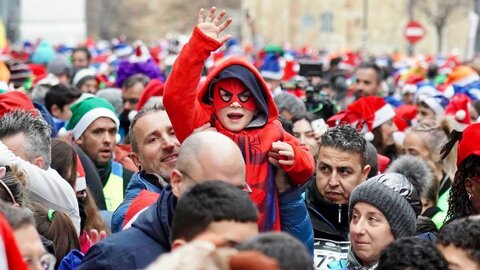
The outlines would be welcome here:
<svg viewBox="0 0 480 270">
<path fill-rule="evenodd" d="M 67 130 L 71 130 L 73 139 L 78 139 L 93 121 L 100 117 L 107 117 L 120 125 L 118 117 L 115 115 L 115 109 L 112 104 L 104 98 L 90 96 L 76 102 L 70 107 L 72 117 L 68 121 Z"/>
</svg>

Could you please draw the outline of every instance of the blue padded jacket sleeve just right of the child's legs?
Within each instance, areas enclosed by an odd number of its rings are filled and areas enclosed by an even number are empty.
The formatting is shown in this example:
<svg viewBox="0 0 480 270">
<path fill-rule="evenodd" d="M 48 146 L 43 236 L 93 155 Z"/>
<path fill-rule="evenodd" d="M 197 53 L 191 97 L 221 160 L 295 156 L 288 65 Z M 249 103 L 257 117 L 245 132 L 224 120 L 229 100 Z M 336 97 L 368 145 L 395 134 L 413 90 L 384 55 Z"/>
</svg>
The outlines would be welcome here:
<svg viewBox="0 0 480 270">
<path fill-rule="evenodd" d="M 313 255 L 313 228 L 301 187 L 292 187 L 278 194 L 280 227 L 305 244 Z"/>
</svg>

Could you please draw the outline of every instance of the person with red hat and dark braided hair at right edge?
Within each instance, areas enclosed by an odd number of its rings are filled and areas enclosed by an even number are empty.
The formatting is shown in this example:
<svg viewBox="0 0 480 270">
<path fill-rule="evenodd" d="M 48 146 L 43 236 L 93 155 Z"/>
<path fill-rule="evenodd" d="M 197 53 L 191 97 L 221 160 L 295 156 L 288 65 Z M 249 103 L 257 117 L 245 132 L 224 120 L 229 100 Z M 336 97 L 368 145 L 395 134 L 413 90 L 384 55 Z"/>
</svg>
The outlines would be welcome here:
<svg viewBox="0 0 480 270">
<path fill-rule="evenodd" d="M 448 222 L 480 214 L 480 123 L 471 124 L 463 132 L 453 131 L 444 148 L 448 154 L 457 142 L 457 172 L 450 190 Z"/>
</svg>

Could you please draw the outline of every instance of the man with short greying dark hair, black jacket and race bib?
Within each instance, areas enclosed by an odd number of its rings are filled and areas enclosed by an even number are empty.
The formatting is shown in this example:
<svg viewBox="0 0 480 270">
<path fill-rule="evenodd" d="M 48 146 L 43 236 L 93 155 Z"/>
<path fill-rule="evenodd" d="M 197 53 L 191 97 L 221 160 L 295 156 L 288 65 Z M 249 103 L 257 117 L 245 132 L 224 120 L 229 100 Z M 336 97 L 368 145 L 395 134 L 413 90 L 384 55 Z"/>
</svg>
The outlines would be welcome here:
<svg viewBox="0 0 480 270">
<path fill-rule="evenodd" d="M 346 258 L 348 201 L 370 172 L 366 155 L 366 141 L 353 127 L 336 126 L 321 137 L 316 176 L 305 188 L 317 266 L 327 264 L 333 253 L 335 259 Z"/>
</svg>

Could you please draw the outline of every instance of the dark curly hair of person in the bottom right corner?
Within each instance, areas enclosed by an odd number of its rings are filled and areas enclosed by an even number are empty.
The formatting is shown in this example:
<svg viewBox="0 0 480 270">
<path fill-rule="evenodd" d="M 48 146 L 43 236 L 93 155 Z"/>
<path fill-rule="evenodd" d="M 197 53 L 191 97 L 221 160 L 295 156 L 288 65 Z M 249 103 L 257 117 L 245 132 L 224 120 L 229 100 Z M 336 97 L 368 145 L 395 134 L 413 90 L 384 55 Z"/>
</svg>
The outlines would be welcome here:
<svg viewBox="0 0 480 270">
<path fill-rule="evenodd" d="M 480 219 L 462 218 L 443 226 L 437 236 L 437 245 L 454 245 L 480 265 Z"/>
</svg>

